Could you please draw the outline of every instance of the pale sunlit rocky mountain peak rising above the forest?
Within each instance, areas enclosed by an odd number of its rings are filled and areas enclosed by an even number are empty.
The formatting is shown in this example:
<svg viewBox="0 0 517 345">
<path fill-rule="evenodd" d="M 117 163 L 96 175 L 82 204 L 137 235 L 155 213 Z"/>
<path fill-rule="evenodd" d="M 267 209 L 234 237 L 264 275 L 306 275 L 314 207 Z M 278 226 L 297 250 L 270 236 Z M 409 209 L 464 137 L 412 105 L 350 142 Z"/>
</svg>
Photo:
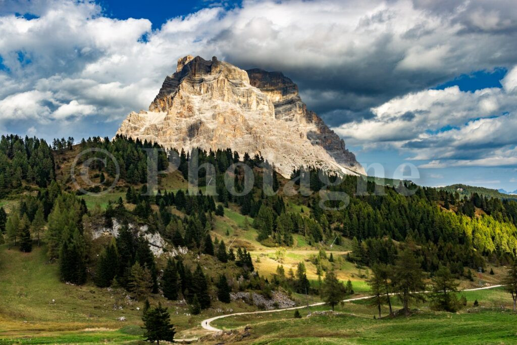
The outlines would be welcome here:
<svg viewBox="0 0 517 345">
<path fill-rule="evenodd" d="M 180 58 L 149 110 L 129 114 L 117 134 L 185 151 L 258 153 L 285 177 L 300 166 L 364 174 L 343 140 L 307 110 L 290 79 L 216 57 Z"/>
</svg>

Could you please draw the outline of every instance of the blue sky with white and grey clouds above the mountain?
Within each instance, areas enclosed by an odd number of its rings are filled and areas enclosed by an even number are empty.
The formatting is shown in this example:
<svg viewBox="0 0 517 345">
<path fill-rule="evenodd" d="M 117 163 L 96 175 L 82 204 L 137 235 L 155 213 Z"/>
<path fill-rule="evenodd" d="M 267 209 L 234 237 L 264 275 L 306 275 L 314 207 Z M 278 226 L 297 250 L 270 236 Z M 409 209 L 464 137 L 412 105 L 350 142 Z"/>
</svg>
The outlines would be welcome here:
<svg viewBox="0 0 517 345">
<path fill-rule="evenodd" d="M 358 160 L 517 189 L 517 5 L 71 2 L 0 8 L 0 129 L 111 137 L 187 54 L 280 70 Z"/>
</svg>

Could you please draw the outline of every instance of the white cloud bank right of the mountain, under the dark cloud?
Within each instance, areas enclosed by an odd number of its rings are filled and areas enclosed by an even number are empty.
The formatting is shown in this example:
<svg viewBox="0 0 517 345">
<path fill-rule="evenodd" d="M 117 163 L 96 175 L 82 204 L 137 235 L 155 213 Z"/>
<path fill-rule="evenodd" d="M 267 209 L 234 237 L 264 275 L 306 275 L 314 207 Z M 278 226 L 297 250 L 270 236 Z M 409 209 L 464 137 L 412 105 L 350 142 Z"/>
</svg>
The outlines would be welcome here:
<svg viewBox="0 0 517 345">
<path fill-rule="evenodd" d="M 374 116 L 346 123 L 336 131 L 348 142 L 384 141 L 429 160 L 420 168 L 514 166 L 517 164 L 517 67 L 501 80 L 503 88 L 462 92 L 458 86 L 428 89 L 372 108 Z"/>
</svg>

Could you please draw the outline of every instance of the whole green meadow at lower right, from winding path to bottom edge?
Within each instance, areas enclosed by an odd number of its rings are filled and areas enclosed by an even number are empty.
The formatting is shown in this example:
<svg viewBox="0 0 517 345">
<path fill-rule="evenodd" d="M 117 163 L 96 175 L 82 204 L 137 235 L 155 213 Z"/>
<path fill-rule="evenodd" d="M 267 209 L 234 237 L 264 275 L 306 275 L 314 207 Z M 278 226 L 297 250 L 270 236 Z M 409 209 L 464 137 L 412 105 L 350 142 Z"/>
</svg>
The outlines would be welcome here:
<svg viewBox="0 0 517 345">
<path fill-rule="evenodd" d="M 515 343 L 514 325 L 517 316 L 500 305 L 510 307 L 511 298 L 502 289 L 469 291 L 464 295 L 468 304 L 460 313 L 434 312 L 428 304 L 409 318 L 372 320 L 376 309 L 367 301 L 345 303 L 336 311 L 340 316 L 311 316 L 309 311 L 328 310 L 328 307 L 302 309 L 302 319 L 294 319 L 293 311 L 216 320 L 219 328 L 251 326 L 251 338 L 246 343 Z M 474 299 L 479 308 L 472 308 Z M 400 308 L 393 300 L 394 307 Z M 383 314 L 387 308 L 383 307 Z M 289 339 L 289 340 L 286 340 Z"/>
</svg>

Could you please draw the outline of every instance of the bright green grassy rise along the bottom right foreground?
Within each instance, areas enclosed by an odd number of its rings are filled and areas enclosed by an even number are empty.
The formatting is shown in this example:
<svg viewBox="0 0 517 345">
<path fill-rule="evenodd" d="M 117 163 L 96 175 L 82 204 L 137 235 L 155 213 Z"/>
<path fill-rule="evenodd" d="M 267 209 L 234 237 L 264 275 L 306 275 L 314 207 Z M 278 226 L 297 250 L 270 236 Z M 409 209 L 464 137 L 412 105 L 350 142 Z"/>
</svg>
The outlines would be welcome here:
<svg viewBox="0 0 517 345">
<path fill-rule="evenodd" d="M 515 314 L 479 311 L 451 314 L 425 312 L 405 318 L 372 320 L 341 314 L 264 321 L 252 325 L 246 343 L 515 343 Z"/>
</svg>

